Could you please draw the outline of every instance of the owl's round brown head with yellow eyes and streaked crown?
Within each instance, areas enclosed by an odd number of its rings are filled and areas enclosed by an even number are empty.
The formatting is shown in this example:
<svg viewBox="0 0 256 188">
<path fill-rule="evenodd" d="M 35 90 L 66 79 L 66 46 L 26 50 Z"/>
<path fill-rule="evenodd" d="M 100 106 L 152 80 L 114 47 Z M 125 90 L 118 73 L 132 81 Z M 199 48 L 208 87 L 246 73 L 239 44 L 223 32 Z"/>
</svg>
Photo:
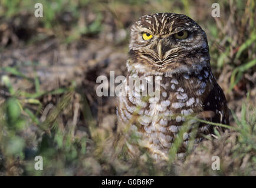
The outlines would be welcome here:
<svg viewBox="0 0 256 188">
<path fill-rule="evenodd" d="M 191 18 L 173 13 L 142 16 L 130 35 L 128 69 L 184 73 L 209 66 L 204 30 Z"/>
</svg>

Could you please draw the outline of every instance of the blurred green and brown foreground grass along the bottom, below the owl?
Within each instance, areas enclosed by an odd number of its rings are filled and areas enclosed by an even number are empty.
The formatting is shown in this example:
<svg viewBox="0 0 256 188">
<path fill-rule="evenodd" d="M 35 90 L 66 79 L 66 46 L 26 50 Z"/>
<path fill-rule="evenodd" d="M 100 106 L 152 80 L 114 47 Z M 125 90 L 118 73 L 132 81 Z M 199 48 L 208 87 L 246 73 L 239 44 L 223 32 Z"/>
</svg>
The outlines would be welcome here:
<svg viewBox="0 0 256 188">
<path fill-rule="evenodd" d="M 8 78 L 5 79 L 5 83 L 9 83 Z M 11 89 L 11 85 L 8 86 Z M 11 92 L 9 90 L 9 92 Z M 75 136 L 74 129 L 76 129 L 76 122 L 68 122 L 63 127 L 60 123 L 61 116 L 65 109 L 70 109 L 70 100 L 74 98 L 74 95 L 80 95 L 81 109 L 83 109 L 84 117 L 86 118 L 87 125 L 91 130 L 91 137 L 88 135 Z M 33 98 L 27 98 L 25 100 L 19 99 L 17 93 L 10 96 L 1 105 L 0 112 L 0 142 L 1 144 L 1 172 L 3 175 L 44 175 L 44 176 L 67 176 L 67 175 L 100 175 L 100 174 L 112 174 L 112 175 L 184 175 L 188 172 L 173 172 L 173 162 L 176 160 L 176 152 L 180 145 L 180 140 L 177 139 L 170 150 L 170 164 L 168 168 L 162 171 L 159 167 L 155 166 L 145 153 L 146 163 L 140 161 L 127 160 L 125 155 L 117 157 L 115 162 L 108 161 L 104 155 L 103 150 L 99 148 L 104 145 L 104 140 L 101 132 L 96 130 L 95 121 L 90 116 L 90 108 L 83 98 L 83 94 L 76 91 L 76 86 L 71 86 L 63 92 L 63 96 L 54 108 L 51 110 L 50 115 L 46 117 L 44 122 L 38 118 L 37 113 L 32 112 L 26 107 L 27 103 L 32 102 L 33 105 L 37 105 L 40 108 L 40 102 L 34 102 Z M 89 110 L 89 112 L 88 112 Z M 222 158 L 222 166 L 220 171 L 214 172 L 209 170 L 210 167 L 201 169 L 199 174 L 193 175 L 252 175 L 255 174 L 255 162 L 256 162 L 256 110 L 251 105 L 244 103 L 241 108 L 241 117 L 238 118 L 235 113 L 232 113 L 235 119 L 236 125 L 230 127 L 230 133 L 224 135 L 218 135 L 218 139 L 214 142 L 214 147 L 204 148 L 199 146 L 198 150 L 204 150 L 205 155 L 209 155 L 209 159 L 216 155 L 214 152 L 228 152 L 219 153 L 218 156 Z M 200 120 L 199 120 L 200 121 Z M 209 122 L 210 123 L 210 122 Z M 35 126 L 35 135 L 29 134 L 29 125 Z M 211 123 L 210 123 L 211 124 Z M 218 125 L 212 123 L 213 125 Z M 224 125 L 223 125 L 224 126 Z M 185 126 L 184 126 L 185 127 Z M 30 130 L 31 131 L 31 130 Z M 182 136 L 186 130 L 180 130 L 179 135 Z M 28 134 L 28 136 L 26 136 Z M 227 136 L 228 134 L 228 136 Z M 30 136 L 36 137 L 36 143 Z M 229 140 L 234 139 L 235 140 Z M 211 140 L 211 138 L 208 138 Z M 212 141 L 211 141 L 212 142 Z M 192 142 L 191 142 L 192 143 Z M 111 146 L 110 146 L 111 147 Z M 228 148 L 227 148 L 228 147 Z M 192 147 L 188 150 L 188 157 L 193 155 Z M 110 150 L 107 150 L 110 152 Z M 209 153 L 208 153 L 209 152 Z M 43 156 L 44 170 L 34 170 L 34 157 Z M 222 156 L 223 155 L 223 156 Z M 228 160 L 225 157 L 229 157 Z M 199 157 L 199 156 L 197 156 Z M 143 159 L 144 159 L 143 158 Z M 193 158 L 195 160 L 196 158 Z M 198 158 L 197 158 L 198 159 Z M 199 159 L 198 159 L 199 160 Z M 186 160 L 188 163 L 190 159 Z M 183 165 L 191 167 L 191 164 Z M 198 164 L 204 163 L 203 161 Z M 242 163 L 242 170 L 241 170 Z M 195 163 L 196 164 L 196 163 Z M 193 165 L 195 165 L 193 164 Z M 232 164 L 232 165 L 231 165 Z M 202 165 L 202 164 L 200 164 Z M 200 168 L 200 166 L 195 166 Z M 193 170 L 192 170 L 193 172 Z M 254 172 L 254 173 L 252 173 Z"/>
</svg>

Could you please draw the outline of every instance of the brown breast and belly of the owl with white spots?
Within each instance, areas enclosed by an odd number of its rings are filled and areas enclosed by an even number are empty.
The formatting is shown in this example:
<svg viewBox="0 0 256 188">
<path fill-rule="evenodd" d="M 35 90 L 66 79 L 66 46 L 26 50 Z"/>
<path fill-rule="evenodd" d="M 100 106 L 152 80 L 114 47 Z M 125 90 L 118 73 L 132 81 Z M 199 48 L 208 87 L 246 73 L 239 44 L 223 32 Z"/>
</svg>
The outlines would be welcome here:
<svg viewBox="0 0 256 188">
<path fill-rule="evenodd" d="M 147 85 L 152 85 L 159 95 L 143 98 L 142 91 L 146 87 L 140 87 L 138 90 L 132 86 L 131 89 L 128 82 L 129 76 L 133 78 L 145 76 Z M 207 108 L 215 109 L 216 112 L 218 112 L 218 107 L 221 109 L 217 105 L 218 92 L 214 97 L 217 100 L 216 103 L 214 100 L 207 99 L 215 82 L 211 70 L 206 68 L 190 75 L 139 75 L 130 72 L 124 82 L 124 93 L 119 97 L 117 115 L 122 124 L 120 126 L 127 125 L 137 132 L 141 136 L 139 145 L 149 149 L 154 158 L 166 158 L 173 140 L 178 136 L 180 128 L 186 121 L 186 116 L 202 112 Z M 212 120 L 212 118 L 207 120 Z M 195 122 L 192 119 L 189 123 L 192 125 L 193 121 Z M 195 142 L 202 140 L 199 133 L 207 135 L 212 130 L 210 125 L 201 123 Z M 183 133 L 183 145 L 178 153 L 185 152 L 190 134 L 190 130 Z M 129 142 L 128 146 L 132 151 L 133 146 Z"/>
</svg>

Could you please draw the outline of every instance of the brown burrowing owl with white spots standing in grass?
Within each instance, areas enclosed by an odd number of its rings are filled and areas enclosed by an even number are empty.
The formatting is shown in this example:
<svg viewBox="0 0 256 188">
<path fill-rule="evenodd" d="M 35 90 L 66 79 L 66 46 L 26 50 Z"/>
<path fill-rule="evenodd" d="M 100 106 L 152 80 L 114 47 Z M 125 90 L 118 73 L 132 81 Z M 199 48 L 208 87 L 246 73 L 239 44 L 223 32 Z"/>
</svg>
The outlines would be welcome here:
<svg viewBox="0 0 256 188">
<path fill-rule="evenodd" d="M 129 130 L 139 135 L 139 145 L 146 147 L 156 159 L 168 159 L 168 151 L 180 127 L 192 114 L 202 119 L 228 124 L 228 108 L 225 95 L 212 75 L 208 42 L 204 30 L 191 18 L 173 13 L 142 16 L 131 29 L 128 74 L 123 93 L 119 97 L 118 129 L 126 137 L 129 152 L 136 153 L 130 141 Z M 159 96 L 142 97 L 142 90 L 132 86 L 128 79 L 144 76 L 156 89 L 159 80 Z M 150 77 L 150 79 L 149 79 Z M 127 92 L 127 95 L 126 95 Z M 137 94 L 137 95 L 136 95 Z M 208 112 L 205 113 L 204 112 Z M 175 115 L 174 118 L 172 115 Z M 214 133 L 214 127 L 200 123 L 195 142 L 202 135 Z M 183 143 L 178 153 L 188 145 L 191 130 L 183 133 Z"/>
</svg>

